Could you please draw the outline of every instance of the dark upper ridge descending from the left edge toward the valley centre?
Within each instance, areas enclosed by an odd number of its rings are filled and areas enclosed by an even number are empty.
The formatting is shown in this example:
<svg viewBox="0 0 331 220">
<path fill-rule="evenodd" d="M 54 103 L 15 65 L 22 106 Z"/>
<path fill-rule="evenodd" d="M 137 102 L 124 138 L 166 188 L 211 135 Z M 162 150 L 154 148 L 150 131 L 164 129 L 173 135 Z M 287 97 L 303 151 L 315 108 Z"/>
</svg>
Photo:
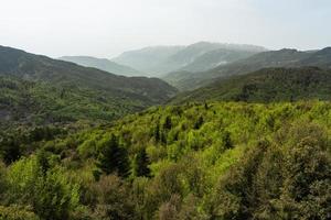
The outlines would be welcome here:
<svg viewBox="0 0 331 220">
<path fill-rule="evenodd" d="M 0 47 L 0 75 L 97 89 L 114 98 L 126 97 L 146 105 L 161 103 L 175 94 L 173 87 L 157 78 L 117 76 L 3 46 Z"/>
</svg>

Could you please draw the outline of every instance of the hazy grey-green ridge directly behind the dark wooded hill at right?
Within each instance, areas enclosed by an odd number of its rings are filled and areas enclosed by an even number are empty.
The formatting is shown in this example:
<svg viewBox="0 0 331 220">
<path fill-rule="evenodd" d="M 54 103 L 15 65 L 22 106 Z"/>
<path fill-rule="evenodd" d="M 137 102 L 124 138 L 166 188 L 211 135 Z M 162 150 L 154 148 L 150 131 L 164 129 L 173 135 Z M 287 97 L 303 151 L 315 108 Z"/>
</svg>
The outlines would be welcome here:
<svg viewBox="0 0 331 220">
<path fill-rule="evenodd" d="M 329 48 L 324 48 L 317 52 L 300 52 L 297 50 L 285 48 L 280 51 L 261 52 L 248 58 L 239 59 L 226 65 L 220 65 L 216 68 L 206 72 L 175 72 L 170 73 L 162 78 L 181 90 L 192 90 L 206 86 L 217 78 L 248 74 L 261 68 L 301 66 L 330 67 L 330 51 L 331 50 Z"/>
</svg>

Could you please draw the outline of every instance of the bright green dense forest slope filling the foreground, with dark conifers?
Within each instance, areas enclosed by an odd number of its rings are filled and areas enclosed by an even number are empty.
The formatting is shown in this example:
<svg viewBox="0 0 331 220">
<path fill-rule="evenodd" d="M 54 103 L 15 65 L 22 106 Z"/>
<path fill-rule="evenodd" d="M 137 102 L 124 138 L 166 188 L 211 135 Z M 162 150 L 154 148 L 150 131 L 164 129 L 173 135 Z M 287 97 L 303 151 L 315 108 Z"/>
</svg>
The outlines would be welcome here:
<svg viewBox="0 0 331 220">
<path fill-rule="evenodd" d="M 2 139 L 0 219 L 330 219 L 330 102 L 190 102 Z"/>
</svg>

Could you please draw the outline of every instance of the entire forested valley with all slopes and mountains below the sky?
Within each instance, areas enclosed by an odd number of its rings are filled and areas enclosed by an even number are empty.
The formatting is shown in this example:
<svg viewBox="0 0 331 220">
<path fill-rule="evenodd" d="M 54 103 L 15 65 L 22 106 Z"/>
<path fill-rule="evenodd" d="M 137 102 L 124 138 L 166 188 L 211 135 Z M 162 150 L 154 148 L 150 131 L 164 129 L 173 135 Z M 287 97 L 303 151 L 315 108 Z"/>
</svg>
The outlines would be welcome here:
<svg viewBox="0 0 331 220">
<path fill-rule="evenodd" d="M 0 46 L 0 219 L 328 219 L 329 52 Z"/>
</svg>

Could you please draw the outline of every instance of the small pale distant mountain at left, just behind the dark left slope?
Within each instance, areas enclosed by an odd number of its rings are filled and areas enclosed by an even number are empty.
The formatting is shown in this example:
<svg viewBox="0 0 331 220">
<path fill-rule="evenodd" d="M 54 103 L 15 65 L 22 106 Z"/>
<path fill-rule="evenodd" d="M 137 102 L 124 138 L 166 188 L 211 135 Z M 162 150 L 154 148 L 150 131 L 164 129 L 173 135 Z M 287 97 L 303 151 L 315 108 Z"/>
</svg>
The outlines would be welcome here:
<svg viewBox="0 0 331 220">
<path fill-rule="evenodd" d="M 143 74 L 125 65 L 116 64 L 106 58 L 96 58 L 92 56 L 62 56 L 58 59 L 72 62 L 85 67 L 94 67 L 116 75 L 122 76 L 142 76 Z"/>
</svg>

